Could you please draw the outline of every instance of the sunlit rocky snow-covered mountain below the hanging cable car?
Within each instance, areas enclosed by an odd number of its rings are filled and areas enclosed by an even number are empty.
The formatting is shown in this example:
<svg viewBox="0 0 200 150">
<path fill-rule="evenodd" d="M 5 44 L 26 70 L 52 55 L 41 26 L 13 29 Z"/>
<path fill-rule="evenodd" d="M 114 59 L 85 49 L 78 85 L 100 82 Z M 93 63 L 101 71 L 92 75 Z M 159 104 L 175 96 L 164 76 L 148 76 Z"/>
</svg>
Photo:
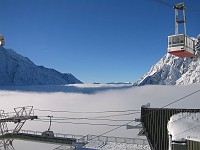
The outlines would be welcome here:
<svg viewBox="0 0 200 150">
<path fill-rule="evenodd" d="M 179 58 L 166 54 L 134 85 L 180 85 L 200 82 L 200 58 Z"/>
</svg>

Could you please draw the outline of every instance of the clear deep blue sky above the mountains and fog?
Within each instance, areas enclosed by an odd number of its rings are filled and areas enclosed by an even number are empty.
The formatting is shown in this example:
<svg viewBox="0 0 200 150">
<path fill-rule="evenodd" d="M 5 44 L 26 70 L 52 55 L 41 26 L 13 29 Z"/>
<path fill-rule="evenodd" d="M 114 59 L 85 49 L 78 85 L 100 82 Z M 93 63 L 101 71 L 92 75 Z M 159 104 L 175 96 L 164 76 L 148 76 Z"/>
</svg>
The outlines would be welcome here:
<svg viewBox="0 0 200 150">
<path fill-rule="evenodd" d="M 165 0 L 171 4 L 183 0 Z M 84 83 L 134 82 L 167 51 L 174 10 L 155 0 L 0 0 L 6 48 Z M 199 0 L 185 0 L 199 9 Z M 187 34 L 200 12 L 187 11 Z"/>
</svg>

